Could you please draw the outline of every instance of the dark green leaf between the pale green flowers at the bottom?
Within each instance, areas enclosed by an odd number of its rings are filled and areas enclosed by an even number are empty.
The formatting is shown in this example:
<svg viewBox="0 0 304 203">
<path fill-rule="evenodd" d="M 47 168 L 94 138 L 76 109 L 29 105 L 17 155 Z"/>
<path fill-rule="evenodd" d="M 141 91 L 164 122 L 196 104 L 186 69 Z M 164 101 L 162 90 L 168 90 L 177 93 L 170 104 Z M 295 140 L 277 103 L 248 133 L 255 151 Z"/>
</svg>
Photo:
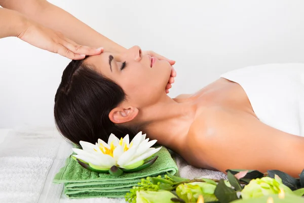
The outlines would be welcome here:
<svg viewBox="0 0 304 203">
<path fill-rule="evenodd" d="M 235 199 L 238 199 L 237 191 L 227 187 L 223 179 L 221 179 L 217 184 L 214 194 L 221 203 L 229 203 Z"/>
</svg>

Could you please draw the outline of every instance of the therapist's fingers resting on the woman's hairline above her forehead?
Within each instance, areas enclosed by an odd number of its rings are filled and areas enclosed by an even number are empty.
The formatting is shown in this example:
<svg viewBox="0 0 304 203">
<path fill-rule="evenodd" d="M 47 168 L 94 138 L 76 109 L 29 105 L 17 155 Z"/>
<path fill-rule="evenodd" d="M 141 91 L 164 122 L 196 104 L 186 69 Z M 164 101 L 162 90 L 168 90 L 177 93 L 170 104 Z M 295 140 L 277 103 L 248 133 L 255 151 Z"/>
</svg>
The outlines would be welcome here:
<svg viewBox="0 0 304 203">
<path fill-rule="evenodd" d="M 88 56 L 92 55 L 98 55 L 103 52 L 103 48 L 92 48 L 87 46 L 82 46 L 79 44 L 76 44 L 75 42 L 64 38 L 64 40 L 61 43 L 64 47 L 66 47 L 69 51 L 73 52 L 74 54 L 85 54 Z"/>
</svg>

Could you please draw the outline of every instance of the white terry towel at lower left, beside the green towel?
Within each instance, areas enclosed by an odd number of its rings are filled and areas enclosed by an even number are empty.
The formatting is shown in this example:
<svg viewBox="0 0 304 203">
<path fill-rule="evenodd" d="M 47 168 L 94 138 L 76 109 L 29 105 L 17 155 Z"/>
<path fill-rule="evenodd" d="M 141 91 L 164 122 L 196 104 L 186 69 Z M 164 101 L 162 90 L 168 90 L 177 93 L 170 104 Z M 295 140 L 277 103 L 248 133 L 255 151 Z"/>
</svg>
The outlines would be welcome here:
<svg viewBox="0 0 304 203">
<path fill-rule="evenodd" d="M 0 202 L 37 202 L 59 140 L 54 128 L 9 132 L 0 145 Z"/>
</svg>

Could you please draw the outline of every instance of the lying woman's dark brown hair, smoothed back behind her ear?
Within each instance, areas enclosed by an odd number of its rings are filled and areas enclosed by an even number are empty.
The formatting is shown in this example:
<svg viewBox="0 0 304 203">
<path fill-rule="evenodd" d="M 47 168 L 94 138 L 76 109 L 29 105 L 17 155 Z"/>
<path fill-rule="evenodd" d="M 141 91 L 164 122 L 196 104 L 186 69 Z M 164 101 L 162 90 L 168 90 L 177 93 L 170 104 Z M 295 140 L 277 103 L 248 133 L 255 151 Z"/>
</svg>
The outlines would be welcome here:
<svg viewBox="0 0 304 203">
<path fill-rule="evenodd" d="M 63 71 L 55 95 L 54 116 L 60 133 L 79 145 L 95 144 L 98 138 L 107 142 L 110 133 L 118 138 L 139 131 L 110 121 L 109 112 L 124 99 L 124 90 L 112 80 L 97 73 L 83 60 L 72 60 Z"/>
</svg>

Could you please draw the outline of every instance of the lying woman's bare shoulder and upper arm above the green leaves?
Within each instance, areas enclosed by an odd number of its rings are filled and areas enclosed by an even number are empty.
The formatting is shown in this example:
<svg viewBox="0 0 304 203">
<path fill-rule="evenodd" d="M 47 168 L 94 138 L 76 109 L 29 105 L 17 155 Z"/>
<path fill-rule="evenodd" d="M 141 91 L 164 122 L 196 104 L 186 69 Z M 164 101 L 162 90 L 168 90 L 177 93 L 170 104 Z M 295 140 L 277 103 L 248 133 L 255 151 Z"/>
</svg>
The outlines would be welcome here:
<svg viewBox="0 0 304 203">
<path fill-rule="evenodd" d="M 222 172 L 236 168 L 263 173 L 280 170 L 294 177 L 303 170 L 304 138 L 270 127 L 251 115 L 220 113 L 215 117 L 208 123 L 214 126 L 212 136 L 204 136 L 200 142 L 201 156 L 208 165 Z"/>
</svg>

